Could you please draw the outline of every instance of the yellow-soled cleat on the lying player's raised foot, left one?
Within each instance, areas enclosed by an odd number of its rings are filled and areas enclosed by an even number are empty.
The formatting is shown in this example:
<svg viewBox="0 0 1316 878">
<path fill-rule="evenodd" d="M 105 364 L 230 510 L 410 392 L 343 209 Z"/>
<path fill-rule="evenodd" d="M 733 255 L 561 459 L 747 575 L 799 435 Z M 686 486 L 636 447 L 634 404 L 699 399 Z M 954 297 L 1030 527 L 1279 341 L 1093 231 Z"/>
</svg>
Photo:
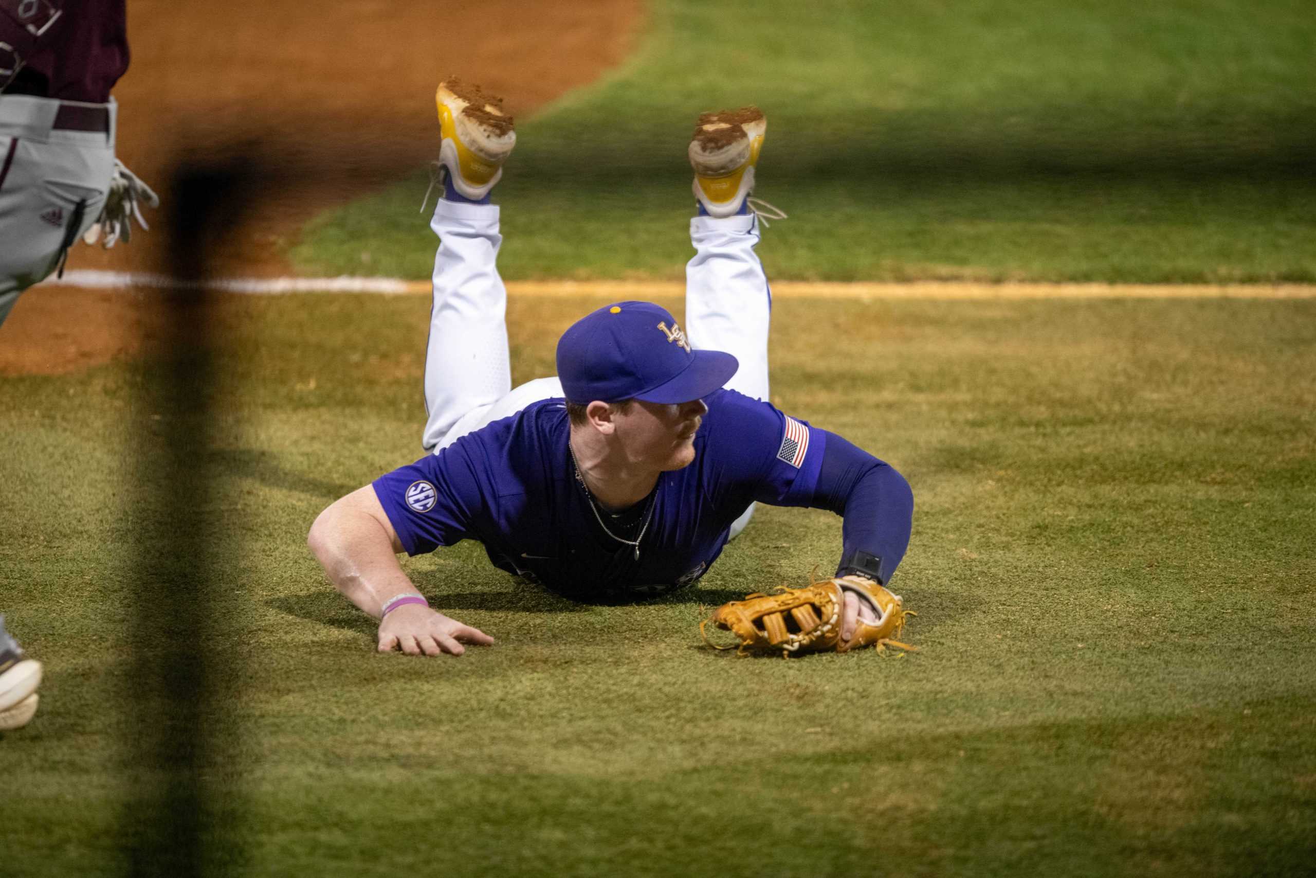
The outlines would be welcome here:
<svg viewBox="0 0 1316 878">
<path fill-rule="evenodd" d="M 438 162 L 463 197 L 479 201 L 503 176 L 503 162 L 516 146 L 515 121 L 503 99 L 450 76 L 434 93 L 442 145 Z"/>
</svg>

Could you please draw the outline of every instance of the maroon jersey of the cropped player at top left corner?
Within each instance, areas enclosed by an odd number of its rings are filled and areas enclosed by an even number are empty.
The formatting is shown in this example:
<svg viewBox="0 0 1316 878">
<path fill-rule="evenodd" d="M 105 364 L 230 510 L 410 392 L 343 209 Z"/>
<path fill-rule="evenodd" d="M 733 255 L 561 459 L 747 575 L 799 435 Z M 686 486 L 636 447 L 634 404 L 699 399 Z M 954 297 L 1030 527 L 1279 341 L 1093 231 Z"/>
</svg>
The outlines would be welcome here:
<svg viewBox="0 0 1316 878">
<path fill-rule="evenodd" d="M 0 7 L 21 4 L 0 0 Z M 45 0 L 61 12 L 36 39 L 32 54 L 5 95 L 38 95 L 104 104 L 109 90 L 128 70 L 128 11 L 125 0 Z M 0 39 L 17 25 L 0 9 Z M 14 34 L 20 37 L 20 34 Z M 3 82 L 3 80 L 0 80 Z"/>
</svg>

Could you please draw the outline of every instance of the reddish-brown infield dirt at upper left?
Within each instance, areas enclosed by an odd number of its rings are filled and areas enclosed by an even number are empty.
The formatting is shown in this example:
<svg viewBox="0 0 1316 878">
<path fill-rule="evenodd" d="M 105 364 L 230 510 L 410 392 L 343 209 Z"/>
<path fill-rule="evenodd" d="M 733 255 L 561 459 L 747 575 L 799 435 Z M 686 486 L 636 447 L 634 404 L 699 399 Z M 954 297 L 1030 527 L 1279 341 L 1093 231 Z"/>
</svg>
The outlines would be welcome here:
<svg viewBox="0 0 1316 878">
<path fill-rule="evenodd" d="M 117 154 L 161 195 L 128 246 L 79 244 L 70 269 L 161 271 L 180 157 L 275 157 L 304 174 L 217 245 L 224 274 L 291 274 L 307 220 L 438 154 L 434 88 L 459 74 L 525 117 L 625 59 L 641 0 L 129 0 L 132 65 L 114 88 Z M 72 371 L 138 345 L 150 297 L 50 288 L 0 326 L 0 374 Z"/>
</svg>

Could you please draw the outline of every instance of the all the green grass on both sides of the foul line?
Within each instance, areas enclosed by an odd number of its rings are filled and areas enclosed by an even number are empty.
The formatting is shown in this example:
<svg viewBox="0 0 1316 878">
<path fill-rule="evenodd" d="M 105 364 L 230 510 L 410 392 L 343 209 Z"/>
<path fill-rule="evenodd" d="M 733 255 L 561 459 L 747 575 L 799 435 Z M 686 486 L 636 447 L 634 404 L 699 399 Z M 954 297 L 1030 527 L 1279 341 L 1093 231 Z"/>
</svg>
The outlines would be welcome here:
<svg viewBox="0 0 1316 878">
<path fill-rule="evenodd" d="M 629 63 L 519 125 L 507 276 L 680 278 L 695 113 L 757 101 L 774 279 L 1316 282 L 1308 3 L 650 8 Z M 299 270 L 428 276 L 424 188 L 321 217 Z M 515 378 L 599 304 L 513 297 Z M 774 508 L 634 606 L 474 544 L 408 561 L 499 644 L 375 654 L 304 541 L 418 457 L 428 313 L 220 297 L 208 426 L 158 351 L 0 380 L 0 611 L 46 663 L 0 733 L 0 875 L 186 858 L 161 808 L 191 792 L 225 875 L 1311 873 L 1316 297 L 780 297 L 772 401 L 916 495 L 921 652 L 797 661 L 697 633 L 834 565 L 836 516 Z M 151 670 L 196 615 L 212 675 Z M 199 785 L 143 758 L 179 729 Z"/>
</svg>

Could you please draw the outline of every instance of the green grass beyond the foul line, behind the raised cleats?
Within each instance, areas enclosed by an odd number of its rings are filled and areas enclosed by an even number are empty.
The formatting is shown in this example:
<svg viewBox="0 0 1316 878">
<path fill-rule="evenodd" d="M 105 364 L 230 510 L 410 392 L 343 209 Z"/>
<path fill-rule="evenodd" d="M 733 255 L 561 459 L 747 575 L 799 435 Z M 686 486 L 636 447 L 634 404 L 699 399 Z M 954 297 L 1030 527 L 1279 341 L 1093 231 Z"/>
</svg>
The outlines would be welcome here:
<svg viewBox="0 0 1316 878">
<path fill-rule="evenodd" d="M 628 65 L 519 125 L 509 278 L 678 278 L 695 117 L 758 103 L 778 279 L 1316 280 L 1305 0 L 649 5 Z M 321 217 L 293 261 L 428 276 L 424 191 Z"/>
</svg>

